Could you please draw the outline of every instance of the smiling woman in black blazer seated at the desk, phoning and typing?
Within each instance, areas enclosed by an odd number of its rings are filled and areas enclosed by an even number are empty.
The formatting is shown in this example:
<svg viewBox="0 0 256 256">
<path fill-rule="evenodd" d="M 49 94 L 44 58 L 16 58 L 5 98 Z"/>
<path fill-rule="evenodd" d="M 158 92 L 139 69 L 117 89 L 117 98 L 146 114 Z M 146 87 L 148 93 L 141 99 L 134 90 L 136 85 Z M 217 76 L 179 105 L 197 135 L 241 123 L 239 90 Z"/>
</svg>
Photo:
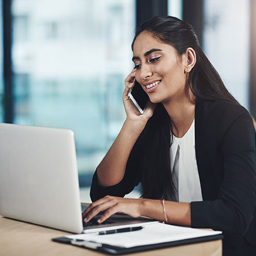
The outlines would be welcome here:
<svg viewBox="0 0 256 256">
<path fill-rule="evenodd" d="M 253 120 L 225 88 L 189 24 L 158 16 L 138 28 L 125 80 L 127 118 L 91 187 L 84 221 L 104 212 L 224 233 L 224 255 L 256 250 Z M 133 79 L 150 103 L 127 98 Z M 123 199 L 141 182 L 141 199 Z M 166 200 L 166 201 L 164 201 Z M 246 251 L 246 252 L 245 252 Z"/>
</svg>

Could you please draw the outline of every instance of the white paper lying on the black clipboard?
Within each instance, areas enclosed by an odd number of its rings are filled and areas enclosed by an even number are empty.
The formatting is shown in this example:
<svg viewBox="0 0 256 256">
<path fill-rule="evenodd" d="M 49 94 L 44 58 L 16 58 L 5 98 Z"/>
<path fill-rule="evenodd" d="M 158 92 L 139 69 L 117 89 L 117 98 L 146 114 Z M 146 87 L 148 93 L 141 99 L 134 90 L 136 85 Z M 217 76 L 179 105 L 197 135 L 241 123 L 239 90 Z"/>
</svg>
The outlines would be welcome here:
<svg viewBox="0 0 256 256">
<path fill-rule="evenodd" d="M 132 232 L 106 234 L 102 236 L 97 234 L 76 234 L 66 237 L 71 239 L 93 241 L 97 243 L 107 243 L 109 245 L 127 248 L 140 245 L 179 241 L 195 237 L 213 236 L 221 233 L 222 232 L 220 231 L 184 228 L 159 222 L 156 224 L 147 225 L 141 230 Z"/>
</svg>

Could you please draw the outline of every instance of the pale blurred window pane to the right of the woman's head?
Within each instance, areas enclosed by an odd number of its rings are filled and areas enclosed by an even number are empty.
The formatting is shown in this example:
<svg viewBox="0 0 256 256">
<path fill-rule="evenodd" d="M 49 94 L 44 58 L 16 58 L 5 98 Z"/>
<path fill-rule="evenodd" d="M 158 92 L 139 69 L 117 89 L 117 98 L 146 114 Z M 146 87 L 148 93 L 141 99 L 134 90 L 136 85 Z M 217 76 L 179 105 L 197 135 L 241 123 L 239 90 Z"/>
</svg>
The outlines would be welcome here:
<svg viewBox="0 0 256 256">
<path fill-rule="evenodd" d="M 226 88 L 249 109 L 250 0 L 204 1 L 203 48 Z"/>
</svg>

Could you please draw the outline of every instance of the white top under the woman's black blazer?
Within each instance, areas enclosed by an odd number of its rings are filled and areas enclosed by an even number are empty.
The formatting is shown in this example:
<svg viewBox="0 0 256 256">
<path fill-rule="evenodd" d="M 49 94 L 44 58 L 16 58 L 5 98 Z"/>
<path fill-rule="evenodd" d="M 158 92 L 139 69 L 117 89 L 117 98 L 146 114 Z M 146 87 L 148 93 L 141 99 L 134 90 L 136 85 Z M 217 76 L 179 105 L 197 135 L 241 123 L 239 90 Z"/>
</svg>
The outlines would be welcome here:
<svg viewBox="0 0 256 256">
<path fill-rule="evenodd" d="M 203 201 L 196 163 L 195 119 L 182 138 L 174 135 L 173 137 L 170 154 L 172 179 L 179 192 L 177 201 L 183 203 Z"/>
</svg>

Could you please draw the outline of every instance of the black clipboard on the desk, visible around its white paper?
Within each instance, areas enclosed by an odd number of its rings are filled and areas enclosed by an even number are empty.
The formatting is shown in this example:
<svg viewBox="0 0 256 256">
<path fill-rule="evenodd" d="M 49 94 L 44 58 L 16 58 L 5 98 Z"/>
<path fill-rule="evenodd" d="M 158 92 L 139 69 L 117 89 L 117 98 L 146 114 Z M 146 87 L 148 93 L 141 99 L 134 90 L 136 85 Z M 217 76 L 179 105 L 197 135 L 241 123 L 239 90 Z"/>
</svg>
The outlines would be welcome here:
<svg viewBox="0 0 256 256">
<path fill-rule="evenodd" d="M 183 227 L 180 227 L 180 228 L 182 229 Z M 122 236 L 125 236 L 124 233 L 120 233 L 120 234 L 122 234 Z M 106 236 L 111 236 L 111 235 L 106 235 Z M 74 245 L 74 246 L 80 246 L 80 247 L 84 247 L 85 249 L 97 250 L 105 254 L 121 255 L 121 254 L 127 254 L 127 253 L 136 253 L 139 251 L 160 249 L 164 247 L 172 247 L 172 246 L 188 245 L 191 243 L 222 240 L 223 238 L 224 236 L 222 233 L 217 233 L 217 234 L 211 234 L 209 236 L 192 237 L 188 239 L 180 239 L 180 240 L 169 241 L 169 242 L 164 241 L 164 242 L 152 243 L 152 244 L 148 243 L 146 245 L 131 246 L 131 247 L 115 246 L 108 243 L 100 243 L 100 242 L 89 241 L 89 240 L 79 240 L 74 238 L 72 239 L 69 237 L 57 237 L 57 238 L 53 238 L 52 241 L 67 243 L 69 245 Z"/>
</svg>

